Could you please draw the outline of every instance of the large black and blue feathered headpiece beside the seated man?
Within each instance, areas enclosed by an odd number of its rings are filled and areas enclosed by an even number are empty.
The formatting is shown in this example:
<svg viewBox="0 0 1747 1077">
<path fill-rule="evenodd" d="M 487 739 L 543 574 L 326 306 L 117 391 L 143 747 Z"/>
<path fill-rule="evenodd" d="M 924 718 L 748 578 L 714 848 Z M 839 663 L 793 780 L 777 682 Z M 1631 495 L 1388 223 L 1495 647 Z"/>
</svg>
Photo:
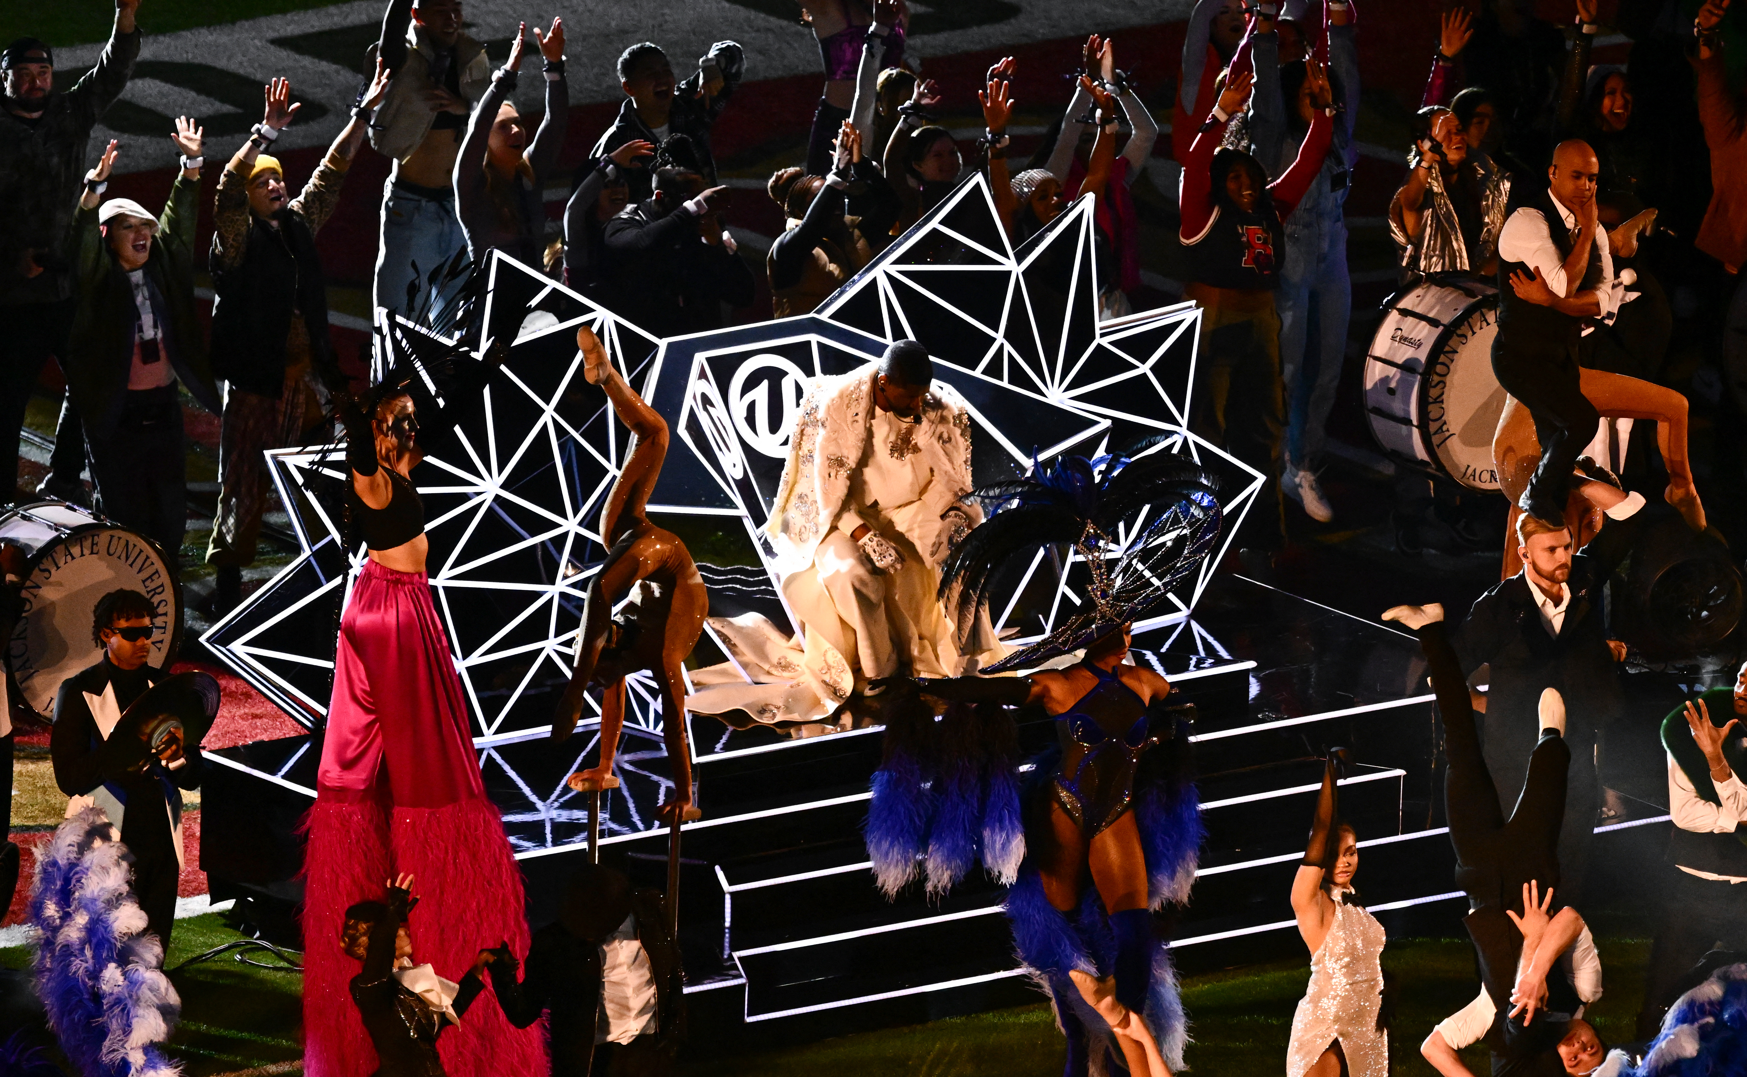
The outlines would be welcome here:
<svg viewBox="0 0 1747 1077">
<path fill-rule="evenodd" d="M 1031 669 L 1078 651 L 1113 628 L 1146 620 L 1169 599 L 1170 587 L 1200 566 L 1219 538 L 1214 480 L 1169 452 L 1139 456 L 1064 456 L 1053 468 L 1032 463 L 1031 475 L 968 494 L 989 518 L 947 559 L 942 597 L 957 588 L 957 614 L 975 614 L 1006 566 L 1029 562 L 1039 546 L 1067 546 L 1067 564 L 1085 562 L 1087 606 L 1043 639 L 984 672 Z"/>
</svg>

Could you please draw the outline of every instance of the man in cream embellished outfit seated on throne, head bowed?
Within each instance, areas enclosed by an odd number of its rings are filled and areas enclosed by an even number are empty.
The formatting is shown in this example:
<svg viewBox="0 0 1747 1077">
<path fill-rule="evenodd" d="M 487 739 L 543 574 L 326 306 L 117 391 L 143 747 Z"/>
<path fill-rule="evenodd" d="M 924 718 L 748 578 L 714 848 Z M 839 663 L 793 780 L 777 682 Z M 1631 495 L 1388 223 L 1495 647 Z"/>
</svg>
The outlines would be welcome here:
<svg viewBox="0 0 1747 1077">
<path fill-rule="evenodd" d="M 982 522 L 970 410 L 915 340 L 821 379 L 802 403 L 770 511 L 783 597 L 809 681 L 835 709 L 868 681 L 949 677 L 996 646 L 989 618 L 952 625 L 940 564 Z"/>
</svg>

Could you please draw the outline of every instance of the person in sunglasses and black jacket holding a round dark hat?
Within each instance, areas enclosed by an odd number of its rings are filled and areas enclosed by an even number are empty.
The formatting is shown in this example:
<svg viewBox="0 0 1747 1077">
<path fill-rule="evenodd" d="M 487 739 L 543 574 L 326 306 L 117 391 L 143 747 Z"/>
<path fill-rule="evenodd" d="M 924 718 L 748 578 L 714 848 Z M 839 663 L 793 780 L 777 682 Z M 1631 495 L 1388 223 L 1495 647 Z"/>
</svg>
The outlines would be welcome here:
<svg viewBox="0 0 1747 1077">
<path fill-rule="evenodd" d="M 206 763 L 197 744 L 182 742 L 180 730 L 171 730 L 155 752 L 140 737 L 112 733 L 128 707 L 169 676 L 150 662 L 154 646 L 162 648 L 171 630 L 142 592 L 122 588 L 98 599 L 91 642 L 103 656 L 61 683 L 49 733 L 54 784 L 72 806 L 96 805 L 121 831 L 133 854 L 133 892 L 147 930 L 166 951 L 183 861 L 182 791 L 199 787 Z"/>
</svg>

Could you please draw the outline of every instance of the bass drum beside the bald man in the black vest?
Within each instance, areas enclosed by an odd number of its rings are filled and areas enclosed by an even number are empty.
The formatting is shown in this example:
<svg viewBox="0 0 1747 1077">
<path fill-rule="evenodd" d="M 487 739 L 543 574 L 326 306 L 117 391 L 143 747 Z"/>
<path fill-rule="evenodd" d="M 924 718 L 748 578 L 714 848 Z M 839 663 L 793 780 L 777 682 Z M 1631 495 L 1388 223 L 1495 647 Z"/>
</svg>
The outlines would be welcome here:
<svg viewBox="0 0 1747 1077">
<path fill-rule="evenodd" d="M 1384 302 L 1364 360 L 1364 415 L 1384 452 L 1473 490 L 1499 489 L 1497 332 L 1499 292 L 1480 281 L 1427 281 Z"/>
</svg>

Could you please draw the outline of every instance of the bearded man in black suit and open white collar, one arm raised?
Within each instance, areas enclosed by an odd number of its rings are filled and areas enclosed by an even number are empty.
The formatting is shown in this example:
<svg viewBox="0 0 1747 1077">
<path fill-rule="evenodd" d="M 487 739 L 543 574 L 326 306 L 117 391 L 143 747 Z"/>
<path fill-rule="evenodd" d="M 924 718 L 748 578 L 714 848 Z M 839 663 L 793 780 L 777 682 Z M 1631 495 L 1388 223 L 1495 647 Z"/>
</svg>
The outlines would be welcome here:
<svg viewBox="0 0 1747 1077">
<path fill-rule="evenodd" d="M 1571 772 L 1558 862 L 1560 899 L 1571 904 L 1581 899 L 1600 806 L 1600 731 L 1623 705 L 1614 667 L 1625 648 L 1607 639 L 1602 587 L 1653 515 L 1644 511 L 1642 494 L 1593 478 L 1572 484 L 1607 515 L 1602 531 L 1574 552 L 1567 527 L 1530 513 L 1518 517 L 1523 569 L 1480 595 L 1455 637 L 1464 674 L 1490 667 L 1481 744 L 1501 798 L 1522 789 L 1539 735 L 1541 691 L 1557 688 L 1565 698 Z M 1501 805 L 1506 813 L 1511 806 Z"/>
</svg>

